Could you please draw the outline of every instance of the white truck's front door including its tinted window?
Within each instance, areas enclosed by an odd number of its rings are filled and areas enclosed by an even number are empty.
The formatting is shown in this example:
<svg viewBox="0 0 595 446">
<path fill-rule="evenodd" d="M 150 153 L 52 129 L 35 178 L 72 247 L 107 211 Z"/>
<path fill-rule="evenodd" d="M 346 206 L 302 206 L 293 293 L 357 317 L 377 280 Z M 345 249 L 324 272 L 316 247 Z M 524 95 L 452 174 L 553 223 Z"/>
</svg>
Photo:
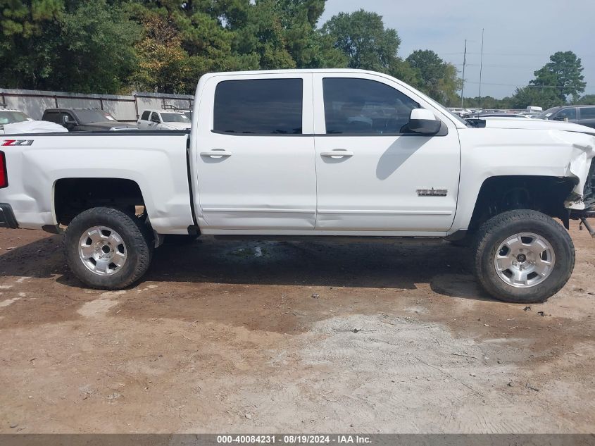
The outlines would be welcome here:
<svg viewBox="0 0 595 446">
<path fill-rule="evenodd" d="M 455 125 L 443 116 L 439 135 L 401 132 L 412 109 L 430 106 L 379 75 L 317 73 L 313 82 L 316 230 L 448 230 L 461 162 Z"/>
</svg>

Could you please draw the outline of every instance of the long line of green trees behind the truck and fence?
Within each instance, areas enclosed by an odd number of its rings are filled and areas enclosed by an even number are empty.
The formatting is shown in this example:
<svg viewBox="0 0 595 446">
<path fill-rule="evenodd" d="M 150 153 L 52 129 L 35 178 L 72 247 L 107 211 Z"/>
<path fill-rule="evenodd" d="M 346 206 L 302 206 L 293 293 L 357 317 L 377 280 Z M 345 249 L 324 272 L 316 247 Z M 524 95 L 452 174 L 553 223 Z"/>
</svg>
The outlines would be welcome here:
<svg viewBox="0 0 595 446">
<path fill-rule="evenodd" d="M 393 75 L 442 104 L 461 104 L 461 79 L 451 63 L 430 50 L 401 58 L 398 32 L 377 13 L 339 13 L 320 25 L 325 3 L 0 0 L 0 87 L 192 94 L 211 71 L 361 68 Z M 573 63 L 582 70 L 576 56 Z M 570 88 L 583 82 L 580 71 L 570 87 L 556 90 L 549 87 L 556 82 L 551 70 L 542 70 L 536 83 L 499 104 L 543 104 L 584 92 Z M 465 98 L 465 106 L 475 106 L 475 99 Z M 482 102 L 509 108 L 490 97 Z"/>
</svg>

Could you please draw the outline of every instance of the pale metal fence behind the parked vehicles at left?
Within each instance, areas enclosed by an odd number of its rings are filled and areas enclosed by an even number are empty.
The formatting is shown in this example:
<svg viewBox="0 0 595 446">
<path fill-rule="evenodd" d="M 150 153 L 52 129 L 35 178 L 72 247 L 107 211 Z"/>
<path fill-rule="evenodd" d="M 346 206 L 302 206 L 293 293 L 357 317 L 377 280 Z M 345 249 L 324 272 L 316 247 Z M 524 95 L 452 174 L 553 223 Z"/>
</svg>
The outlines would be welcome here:
<svg viewBox="0 0 595 446">
<path fill-rule="evenodd" d="M 189 94 L 134 92 L 130 96 L 121 96 L 0 89 L 0 103 L 6 104 L 9 109 L 24 111 L 33 119 L 41 119 L 45 109 L 89 107 L 105 110 L 117 120 L 132 122 L 146 109 L 162 109 L 163 106 L 169 105 L 189 110 L 192 109 L 193 101 L 194 96 Z"/>
</svg>

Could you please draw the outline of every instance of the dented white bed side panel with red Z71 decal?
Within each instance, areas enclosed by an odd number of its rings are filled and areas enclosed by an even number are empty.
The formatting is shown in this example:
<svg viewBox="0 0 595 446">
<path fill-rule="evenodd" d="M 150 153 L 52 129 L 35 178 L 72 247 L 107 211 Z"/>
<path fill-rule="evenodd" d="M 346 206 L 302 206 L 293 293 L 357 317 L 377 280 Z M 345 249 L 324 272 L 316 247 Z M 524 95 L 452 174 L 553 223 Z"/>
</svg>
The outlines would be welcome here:
<svg viewBox="0 0 595 446">
<path fill-rule="evenodd" d="M 158 233 L 187 234 L 192 225 L 185 135 L 35 135 L 28 147 L 1 147 L 11 204 L 20 228 L 56 225 L 54 185 L 61 178 L 123 178 L 143 194 Z"/>
</svg>

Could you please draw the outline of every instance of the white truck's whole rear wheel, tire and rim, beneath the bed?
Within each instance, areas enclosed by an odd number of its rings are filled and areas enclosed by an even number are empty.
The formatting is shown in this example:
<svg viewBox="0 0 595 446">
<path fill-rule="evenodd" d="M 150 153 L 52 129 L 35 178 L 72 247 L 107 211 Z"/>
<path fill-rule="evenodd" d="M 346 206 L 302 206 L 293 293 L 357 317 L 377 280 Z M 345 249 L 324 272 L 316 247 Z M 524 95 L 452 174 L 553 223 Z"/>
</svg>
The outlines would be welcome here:
<svg viewBox="0 0 595 446">
<path fill-rule="evenodd" d="M 78 214 L 64 239 L 68 266 L 83 283 L 117 290 L 136 282 L 151 262 L 153 246 L 138 218 L 96 207 Z"/>
</svg>

